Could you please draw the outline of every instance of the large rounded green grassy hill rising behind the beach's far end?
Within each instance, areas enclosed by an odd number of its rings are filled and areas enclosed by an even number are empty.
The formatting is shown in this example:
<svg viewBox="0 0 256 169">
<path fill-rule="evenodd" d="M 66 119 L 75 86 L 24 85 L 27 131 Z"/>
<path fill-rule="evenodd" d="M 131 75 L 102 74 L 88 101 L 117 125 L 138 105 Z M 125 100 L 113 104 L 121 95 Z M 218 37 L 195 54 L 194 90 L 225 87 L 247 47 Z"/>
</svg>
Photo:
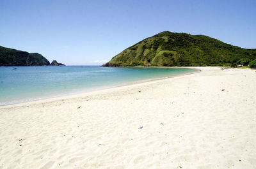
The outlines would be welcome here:
<svg viewBox="0 0 256 169">
<path fill-rule="evenodd" d="M 164 31 L 125 49 L 102 66 L 216 66 L 256 59 L 245 49 L 204 35 Z"/>
</svg>

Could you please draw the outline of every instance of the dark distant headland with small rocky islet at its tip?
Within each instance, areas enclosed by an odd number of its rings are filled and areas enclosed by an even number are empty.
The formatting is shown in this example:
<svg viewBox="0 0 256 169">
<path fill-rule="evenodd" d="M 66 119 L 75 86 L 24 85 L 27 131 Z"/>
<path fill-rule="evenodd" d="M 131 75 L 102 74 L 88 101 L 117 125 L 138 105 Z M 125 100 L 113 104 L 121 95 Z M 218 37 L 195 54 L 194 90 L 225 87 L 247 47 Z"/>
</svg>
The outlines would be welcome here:
<svg viewBox="0 0 256 169">
<path fill-rule="evenodd" d="M 65 66 L 52 61 L 51 63 L 41 54 L 28 53 L 13 48 L 0 46 L 0 66 Z"/>
</svg>

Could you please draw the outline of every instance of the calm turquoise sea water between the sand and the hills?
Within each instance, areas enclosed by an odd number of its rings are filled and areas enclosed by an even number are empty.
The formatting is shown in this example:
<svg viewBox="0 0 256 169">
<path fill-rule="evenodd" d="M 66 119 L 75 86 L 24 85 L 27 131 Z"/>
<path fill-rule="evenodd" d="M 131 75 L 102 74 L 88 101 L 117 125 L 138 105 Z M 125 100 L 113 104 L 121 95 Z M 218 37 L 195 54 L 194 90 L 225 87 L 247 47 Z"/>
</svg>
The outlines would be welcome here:
<svg viewBox="0 0 256 169">
<path fill-rule="evenodd" d="M 105 68 L 100 66 L 0 67 L 0 105 L 76 94 L 195 71 L 198 70 L 189 68 Z"/>
</svg>

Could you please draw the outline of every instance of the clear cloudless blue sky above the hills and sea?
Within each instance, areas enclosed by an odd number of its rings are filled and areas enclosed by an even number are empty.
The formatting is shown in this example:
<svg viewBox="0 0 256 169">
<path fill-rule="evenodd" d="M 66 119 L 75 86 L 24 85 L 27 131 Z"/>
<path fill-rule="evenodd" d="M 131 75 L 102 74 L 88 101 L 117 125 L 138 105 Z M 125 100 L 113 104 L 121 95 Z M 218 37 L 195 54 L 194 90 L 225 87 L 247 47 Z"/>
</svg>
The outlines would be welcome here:
<svg viewBox="0 0 256 169">
<path fill-rule="evenodd" d="M 99 65 L 161 31 L 256 48 L 256 1 L 0 0 L 0 45 Z"/>
</svg>

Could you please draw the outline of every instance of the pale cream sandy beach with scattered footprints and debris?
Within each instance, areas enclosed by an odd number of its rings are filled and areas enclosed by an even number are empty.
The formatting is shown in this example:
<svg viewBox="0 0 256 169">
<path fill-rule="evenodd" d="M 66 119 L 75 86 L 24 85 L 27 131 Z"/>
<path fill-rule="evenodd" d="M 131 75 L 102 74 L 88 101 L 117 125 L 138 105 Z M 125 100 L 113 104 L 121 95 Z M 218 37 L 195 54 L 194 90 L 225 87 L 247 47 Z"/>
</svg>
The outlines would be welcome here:
<svg viewBox="0 0 256 169">
<path fill-rule="evenodd" d="M 256 168 L 256 72 L 199 68 L 0 107 L 0 168 Z"/>
</svg>

